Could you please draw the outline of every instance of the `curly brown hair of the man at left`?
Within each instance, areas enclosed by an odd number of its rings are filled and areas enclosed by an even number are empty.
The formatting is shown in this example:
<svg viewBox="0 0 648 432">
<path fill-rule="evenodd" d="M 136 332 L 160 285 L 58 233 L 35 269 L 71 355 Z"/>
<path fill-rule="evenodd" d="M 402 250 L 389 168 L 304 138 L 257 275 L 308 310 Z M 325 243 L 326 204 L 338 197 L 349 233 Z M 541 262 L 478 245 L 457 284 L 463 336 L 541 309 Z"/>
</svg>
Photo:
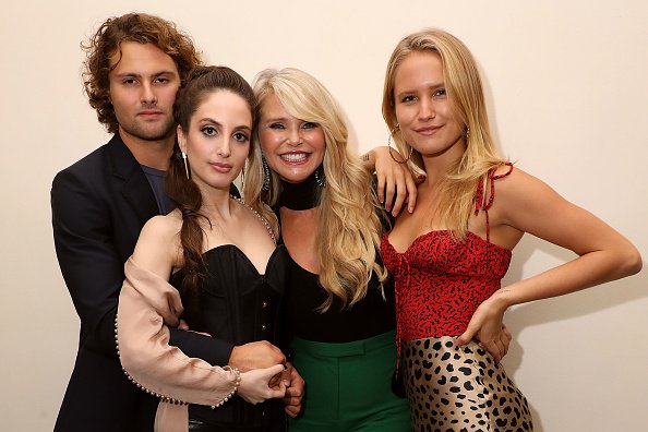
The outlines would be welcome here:
<svg viewBox="0 0 648 432">
<path fill-rule="evenodd" d="M 86 52 L 83 63 L 85 93 L 91 106 L 97 110 L 99 122 L 110 133 L 117 133 L 119 129 L 110 103 L 108 77 L 117 63 L 110 68 L 110 58 L 120 49 L 122 41 L 155 45 L 173 59 L 182 81 L 189 71 L 202 63 L 189 35 L 178 31 L 170 21 L 145 13 L 128 13 L 106 20 L 87 43 L 81 44 L 81 48 Z"/>
</svg>

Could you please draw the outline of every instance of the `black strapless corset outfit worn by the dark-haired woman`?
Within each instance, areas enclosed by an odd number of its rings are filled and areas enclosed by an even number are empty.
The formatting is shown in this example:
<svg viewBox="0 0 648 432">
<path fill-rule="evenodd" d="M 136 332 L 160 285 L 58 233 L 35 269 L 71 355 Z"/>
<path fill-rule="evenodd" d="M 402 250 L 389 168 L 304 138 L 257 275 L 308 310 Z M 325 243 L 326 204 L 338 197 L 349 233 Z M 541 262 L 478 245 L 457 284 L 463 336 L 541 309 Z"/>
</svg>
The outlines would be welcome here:
<svg viewBox="0 0 648 432">
<path fill-rule="evenodd" d="M 265 274 L 260 275 L 243 252 L 233 244 L 224 244 L 203 254 L 206 276 L 201 285 L 200 320 L 188 317 L 190 328 L 205 332 L 232 345 L 279 340 L 281 298 L 286 286 L 289 256 L 279 245 L 268 260 Z M 171 276 L 187 303 L 182 287 L 182 271 Z M 197 430 L 254 430 L 267 431 L 271 425 L 285 422 L 284 404 L 271 399 L 252 405 L 240 397 L 212 409 L 190 405 L 190 419 L 199 420 L 207 429 Z M 212 428 L 212 429 L 209 429 Z"/>
</svg>

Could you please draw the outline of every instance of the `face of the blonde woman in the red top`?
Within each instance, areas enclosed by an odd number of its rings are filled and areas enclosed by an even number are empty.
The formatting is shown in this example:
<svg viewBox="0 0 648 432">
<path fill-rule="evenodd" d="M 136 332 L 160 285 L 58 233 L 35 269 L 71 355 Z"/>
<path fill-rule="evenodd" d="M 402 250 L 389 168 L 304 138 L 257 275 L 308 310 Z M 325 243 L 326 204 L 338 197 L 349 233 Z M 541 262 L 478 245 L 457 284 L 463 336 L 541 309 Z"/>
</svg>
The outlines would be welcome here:
<svg viewBox="0 0 648 432">
<path fill-rule="evenodd" d="M 407 144 L 423 157 L 461 157 L 466 149 L 464 127 L 448 100 L 441 56 L 434 51 L 407 55 L 394 75 L 394 103 Z"/>
</svg>

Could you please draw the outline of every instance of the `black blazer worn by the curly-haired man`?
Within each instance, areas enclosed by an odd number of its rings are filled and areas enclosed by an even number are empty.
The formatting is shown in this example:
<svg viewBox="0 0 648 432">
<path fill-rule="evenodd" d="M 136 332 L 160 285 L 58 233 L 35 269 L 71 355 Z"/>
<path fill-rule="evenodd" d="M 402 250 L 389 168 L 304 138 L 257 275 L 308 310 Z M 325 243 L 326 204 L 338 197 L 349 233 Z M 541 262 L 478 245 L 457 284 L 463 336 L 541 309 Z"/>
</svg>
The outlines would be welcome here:
<svg viewBox="0 0 648 432">
<path fill-rule="evenodd" d="M 125 377 L 115 319 L 128 257 L 159 213 L 153 190 L 119 134 L 59 172 L 51 188 L 53 239 L 81 319 L 79 352 L 55 431 L 152 431 L 157 400 Z M 190 357 L 227 364 L 229 343 L 171 329 Z"/>
</svg>

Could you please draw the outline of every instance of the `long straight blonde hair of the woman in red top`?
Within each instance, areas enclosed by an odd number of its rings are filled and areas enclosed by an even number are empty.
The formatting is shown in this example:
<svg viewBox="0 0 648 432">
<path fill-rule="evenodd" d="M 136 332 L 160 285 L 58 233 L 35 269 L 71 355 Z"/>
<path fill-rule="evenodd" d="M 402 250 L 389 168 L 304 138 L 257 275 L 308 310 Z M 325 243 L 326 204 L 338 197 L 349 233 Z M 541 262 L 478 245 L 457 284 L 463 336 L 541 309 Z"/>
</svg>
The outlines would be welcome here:
<svg viewBox="0 0 648 432">
<path fill-rule="evenodd" d="M 464 239 L 468 230 L 471 209 L 479 179 L 484 182 L 484 200 L 489 192 L 488 171 L 506 163 L 493 141 L 485 108 L 483 88 L 475 58 L 455 36 L 437 28 L 428 28 L 401 39 L 387 63 L 383 89 L 383 118 L 403 155 L 411 153 L 408 164 L 413 170 L 424 170 L 419 152 L 412 151 L 403 135 L 397 133 L 394 87 L 396 70 L 411 52 L 436 52 L 443 63 L 447 97 L 456 119 L 464 124 L 466 151 L 458 163 L 451 167 L 440 183 L 440 202 L 434 215 L 439 223 L 451 229 L 456 238 Z M 398 131 L 399 132 L 399 131 Z"/>
</svg>

